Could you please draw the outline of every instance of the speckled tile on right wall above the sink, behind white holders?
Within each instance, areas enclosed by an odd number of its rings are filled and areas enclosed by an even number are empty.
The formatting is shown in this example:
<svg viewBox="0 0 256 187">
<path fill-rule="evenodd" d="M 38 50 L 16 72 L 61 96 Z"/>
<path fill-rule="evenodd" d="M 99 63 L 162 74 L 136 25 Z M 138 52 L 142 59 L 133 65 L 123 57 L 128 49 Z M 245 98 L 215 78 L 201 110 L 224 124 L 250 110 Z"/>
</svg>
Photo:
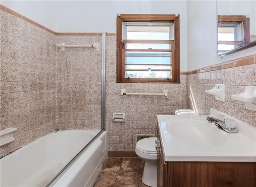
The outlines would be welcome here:
<svg viewBox="0 0 256 187">
<path fill-rule="evenodd" d="M 231 99 L 231 95 L 244 92 L 245 86 L 256 86 L 255 56 L 240 60 L 251 61 L 253 64 L 250 65 L 187 75 L 188 108 L 195 110 L 200 115 L 208 115 L 210 108 L 214 108 L 256 126 L 256 111 L 247 110 L 243 102 Z M 229 63 L 229 66 L 234 65 Z M 225 102 L 216 100 L 213 96 L 205 93 L 205 90 L 212 89 L 215 84 L 225 84 Z"/>
</svg>

